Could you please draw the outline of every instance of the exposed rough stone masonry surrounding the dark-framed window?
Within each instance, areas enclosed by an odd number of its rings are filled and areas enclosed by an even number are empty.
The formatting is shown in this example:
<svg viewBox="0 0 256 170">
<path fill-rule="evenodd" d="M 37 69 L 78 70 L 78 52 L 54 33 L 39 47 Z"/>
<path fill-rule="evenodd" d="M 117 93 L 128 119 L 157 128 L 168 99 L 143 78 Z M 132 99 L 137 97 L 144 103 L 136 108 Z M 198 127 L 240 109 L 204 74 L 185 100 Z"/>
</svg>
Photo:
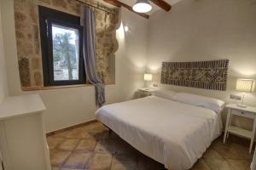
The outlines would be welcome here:
<svg viewBox="0 0 256 170">
<path fill-rule="evenodd" d="M 87 0 L 85 3 L 108 8 L 95 0 Z M 38 5 L 79 16 L 81 4 L 76 0 L 14 0 L 20 83 L 24 90 L 44 88 Z M 113 14 L 95 10 L 96 70 L 102 82 L 113 84 L 114 52 L 118 47 L 115 34 L 119 25 L 119 9 L 108 10 Z"/>
</svg>

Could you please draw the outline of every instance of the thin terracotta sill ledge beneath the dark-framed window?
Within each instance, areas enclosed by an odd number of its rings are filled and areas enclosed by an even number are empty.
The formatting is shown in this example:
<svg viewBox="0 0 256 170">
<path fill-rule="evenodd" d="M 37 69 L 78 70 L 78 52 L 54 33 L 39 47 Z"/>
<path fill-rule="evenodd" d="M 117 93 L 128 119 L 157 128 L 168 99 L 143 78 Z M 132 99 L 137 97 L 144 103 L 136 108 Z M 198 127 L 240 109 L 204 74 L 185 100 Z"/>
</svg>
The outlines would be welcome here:
<svg viewBox="0 0 256 170">
<path fill-rule="evenodd" d="M 114 83 L 105 84 L 105 86 L 114 85 Z M 52 90 L 52 89 L 61 89 L 61 88 L 81 88 L 81 87 L 93 87 L 92 84 L 78 84 L 78 85 L 68 85 L 68 86 L 49 86 L 49 87 L 27 87 L 22 88 L 22 91 L 41 91 L 41 90 Z"/>
</svg>

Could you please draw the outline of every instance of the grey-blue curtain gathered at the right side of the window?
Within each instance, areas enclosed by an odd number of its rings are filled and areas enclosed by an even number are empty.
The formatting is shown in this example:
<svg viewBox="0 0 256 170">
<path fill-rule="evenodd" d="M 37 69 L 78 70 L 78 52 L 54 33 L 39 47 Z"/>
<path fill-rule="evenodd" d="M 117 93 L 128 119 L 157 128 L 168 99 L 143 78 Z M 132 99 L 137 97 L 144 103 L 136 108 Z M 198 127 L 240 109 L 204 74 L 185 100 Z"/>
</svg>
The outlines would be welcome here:
<svg viewBox="0 0 256 170">
<path fill-rule="evenodd" d="M 92 83 L 96 91 L 96 105 L 101 107 L 105 103 L 105 87 L 96 72 L 96 16 L 95 12 L 81 6 L 81 26 L 83 26 L 83 54 L 87 80 Z"/>
</svg>

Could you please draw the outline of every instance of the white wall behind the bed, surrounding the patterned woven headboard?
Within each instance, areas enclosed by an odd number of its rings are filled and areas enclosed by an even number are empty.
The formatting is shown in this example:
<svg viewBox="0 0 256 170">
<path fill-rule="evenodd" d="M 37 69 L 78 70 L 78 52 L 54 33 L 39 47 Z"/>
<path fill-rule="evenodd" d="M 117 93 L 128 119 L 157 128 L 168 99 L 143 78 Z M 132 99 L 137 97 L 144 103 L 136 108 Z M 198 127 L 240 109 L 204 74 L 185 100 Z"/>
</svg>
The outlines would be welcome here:
<svg viewBox="0 0 256 170">
<path fill-rule="evenodd" d="M 169 13 L 154 13 L 149 20 L 148 71 L 160 82 L 163 61 L 230 59 L 227 92 L 160 85 L 230 102 L 229 94 L 237 94 L 236 77 L 256 78 L 255 16 L 255 0 L 183 0 Z M 246 103 L 256 105 L 256 94 L 247 94 Z M 247 122 L 239 123 L 247 127 Z"/>
</svg>

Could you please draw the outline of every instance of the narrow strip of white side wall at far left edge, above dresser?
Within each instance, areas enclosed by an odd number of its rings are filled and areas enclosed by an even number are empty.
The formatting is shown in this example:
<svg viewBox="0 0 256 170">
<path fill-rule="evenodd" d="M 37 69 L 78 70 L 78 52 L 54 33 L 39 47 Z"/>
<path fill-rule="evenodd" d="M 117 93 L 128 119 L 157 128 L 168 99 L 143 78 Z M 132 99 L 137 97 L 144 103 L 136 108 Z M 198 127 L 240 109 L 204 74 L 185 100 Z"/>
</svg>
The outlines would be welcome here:
<svg viewBox="0 0 256 170">
<path fill-rule="evenodd" d="M 2 103 L 4 97 L 6 97 L 7 95 L 8 95 L 8 88 L 7 88 L 4 49 L 3 49 L 2 14 L 1 14 L 1 8 L 0 8 L 0 104 Z"/>
</svg>

